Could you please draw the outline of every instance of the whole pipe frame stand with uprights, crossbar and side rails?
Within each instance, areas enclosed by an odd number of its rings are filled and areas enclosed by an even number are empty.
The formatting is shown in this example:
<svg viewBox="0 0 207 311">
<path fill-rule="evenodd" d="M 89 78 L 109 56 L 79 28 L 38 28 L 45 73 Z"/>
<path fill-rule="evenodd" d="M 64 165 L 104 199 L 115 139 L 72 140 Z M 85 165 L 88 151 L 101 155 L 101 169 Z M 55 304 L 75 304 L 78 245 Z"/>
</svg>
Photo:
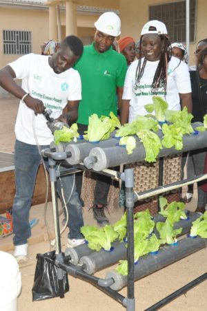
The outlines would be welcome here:
<svg viewBox="0 0 207 311">
<path fill-rule="evenodd" d="M 77 277 L 82 279 L 83 281 L 88 281 L 92 283 L 95 287 L 99 288 L 102 292 L 108 294 L 113 299 L 117 300 L 119 303 L 122 303 L 126 307 L 127 311 L 135 311 L 135 267 L 134 267 L 134 216 L 133 216 L 133 208 L 135 202 L 137 200 L 144 199 L 145 197 L 150 197 L 152 195 L 161 194 L 168 191 L 168 188 L 173 187 L 173 189 L 180 188 L 183 184 L 185 184 L 185 180 L 172 183 L 166 186 L 158 186 L 157 189 L 151 189 L 149 191 L 144 191 L 143 193 L 133 193 L 133 183 L 134 183 L 134 173 L 133 169 L 126 169 L 124 173 L 121 173 L 121 180 L 125 181 L 126 186 L 126 213 L 127 213 L 127 238 L 128 238 L 128 296 L 124 297 L 119 294 L 116 290 L 112 290 L 110 286 L 114 283 L 112 277 L 108 279 L 99 279 L 92 275 L 88 275 L 86 272 L 83 272 L 84 266 L 74 266 L 69 261 L 66 263 L 66 257 L 61 253 L 61 238 L 60 238 L 60 229 L 59 229 L 59 213 L 58 213 L 58 205 L 57 205 L 57 192 L 56 192 L 56 184 L 57 178 L 59 177 L 59 171 L 56 171 L 56 163 L 57 161 L 66 160 L 68 157 L 66 152 L 52 152 L 50 149 L 44 149 L 42 151 L 43 156 L 48 157 L 49 159 L 49 175 L 50 175 L 50 183 L 51 183 L 51 193 L 52 193 L 52 213 L 54 217 L 55 224 L 55 242 L 56 242 L 56 259 L 55 265 L 58 267 L 58 280 L 59 280 L 59 296 L 61 298 L 64 297 L 63 292 L 63 275 L 65 272 L 68 272 L 69 275 L 73 277 Z M 162 165 L 160 174 L 162 171 Z M 206 179 L 206 175 L 201 175 L 199 178 L 201 180 Z M 197 178 L 190 178 L 188 184 L 193 184 L 193 182 L 197 181 Z M 160 180 L 161 183 L 161 180 Z M 137 197 L 136 197 L 137 195 Z M 197 284 L 207 279 L 207 273 L 201 275 L 197 279 L 191 281 L 186 284 L 179 290 L 173 292 L 168 297 L 165 297 L 161 301 L 152 305 L 146 311 L 154 311 L 158 308 L 161 308 L 163 305 L 166 305 L 173 299 L 179 297 L 181 294 L 190 290 Z"/>
</svg>

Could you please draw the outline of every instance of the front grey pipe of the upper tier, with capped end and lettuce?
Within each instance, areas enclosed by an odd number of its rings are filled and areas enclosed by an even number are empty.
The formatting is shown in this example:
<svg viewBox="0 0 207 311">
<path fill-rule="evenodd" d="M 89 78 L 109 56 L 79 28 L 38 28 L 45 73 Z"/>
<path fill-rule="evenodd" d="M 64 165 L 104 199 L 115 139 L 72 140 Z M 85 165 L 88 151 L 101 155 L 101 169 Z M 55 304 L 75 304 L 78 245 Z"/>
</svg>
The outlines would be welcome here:
<svg viewBox="0 0 207 311">
<path fill-rule="evenodd" d="M 195 128 L 201 125 L 203 125 L 201 122 L 195 122 L 192 126 Z M 184 147 L 181 151 L 176 150 L 175 147 L 161 149 L 159 152 L 159 158 L 207 147 L 207 132 L 199 132 L 196 136 L 193 134 L 188 136 L 185 135 L 183 137 L 183 144 Z M 137 141 L 136 148 L 131 154 L 127 154 L 126 148 L 122 146 L 107 148 L 95 147 L 90 151 L 89 157 L 95 159 L 92 169 L 94 171 L 103 171 L 108 167 L 117 167 L 121 164 L 143 161 L 146 157 L 146 152 L 144 145 Z M 84 160 L 85 165 L 86 160 L 87 159 Z"/>
</svg>

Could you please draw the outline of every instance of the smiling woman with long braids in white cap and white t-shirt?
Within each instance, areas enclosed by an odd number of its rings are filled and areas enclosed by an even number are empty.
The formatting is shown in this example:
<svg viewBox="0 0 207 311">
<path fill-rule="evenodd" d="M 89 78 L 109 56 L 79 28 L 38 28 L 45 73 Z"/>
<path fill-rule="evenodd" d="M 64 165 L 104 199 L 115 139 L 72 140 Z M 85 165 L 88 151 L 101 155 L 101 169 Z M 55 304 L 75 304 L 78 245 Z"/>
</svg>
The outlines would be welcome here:
<svg viewBox="0 0 207 311">
<path fill-rule="evenodd" d="M 149 21 L 141 30 L 143 58 L 134 61 L 126 74 L 122 97 L 121 124 L 132 122 L 137 115 L 146 115 L 145 105 L 152 96 L 161 96 L 168 109 L 192 110 L 191 86 L 188 66 L 172 56 L 166 25 Z"/>
</svg>

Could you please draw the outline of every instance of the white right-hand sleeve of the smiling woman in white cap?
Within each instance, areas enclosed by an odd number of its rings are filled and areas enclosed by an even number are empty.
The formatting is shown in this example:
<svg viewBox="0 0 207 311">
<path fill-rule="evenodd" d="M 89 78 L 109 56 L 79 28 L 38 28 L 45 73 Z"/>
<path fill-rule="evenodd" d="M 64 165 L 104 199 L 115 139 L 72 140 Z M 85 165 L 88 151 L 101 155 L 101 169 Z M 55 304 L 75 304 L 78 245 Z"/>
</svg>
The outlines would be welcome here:
<svg viewBox="0 0 207 311">
<path fill-rule="evenodd" d="M 177 90 L 181 94 L 191 93 L 191 83 L 188 65 L 181 61 L 175 68 L 175 83 Z"/>
</svg>

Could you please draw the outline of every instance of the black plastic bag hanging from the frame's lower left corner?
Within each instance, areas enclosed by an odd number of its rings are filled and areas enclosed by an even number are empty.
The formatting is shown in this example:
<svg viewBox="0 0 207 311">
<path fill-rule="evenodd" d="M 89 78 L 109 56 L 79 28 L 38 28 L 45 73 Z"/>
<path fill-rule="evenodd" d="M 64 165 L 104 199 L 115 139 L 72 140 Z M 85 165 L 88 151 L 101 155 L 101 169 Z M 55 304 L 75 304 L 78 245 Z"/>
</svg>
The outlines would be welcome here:
<svg viewBox="0 0 207 311">
<path fill-rule="evenodd" d="M 55 250 L 45 254 L 37 254 L 37 265 L 32 287 L 32 301 L 59 297 L 57 266 L 55 266 Z M 63 291 L 69 291 L 68 273 L 63 274 Z"/>
</svg>

